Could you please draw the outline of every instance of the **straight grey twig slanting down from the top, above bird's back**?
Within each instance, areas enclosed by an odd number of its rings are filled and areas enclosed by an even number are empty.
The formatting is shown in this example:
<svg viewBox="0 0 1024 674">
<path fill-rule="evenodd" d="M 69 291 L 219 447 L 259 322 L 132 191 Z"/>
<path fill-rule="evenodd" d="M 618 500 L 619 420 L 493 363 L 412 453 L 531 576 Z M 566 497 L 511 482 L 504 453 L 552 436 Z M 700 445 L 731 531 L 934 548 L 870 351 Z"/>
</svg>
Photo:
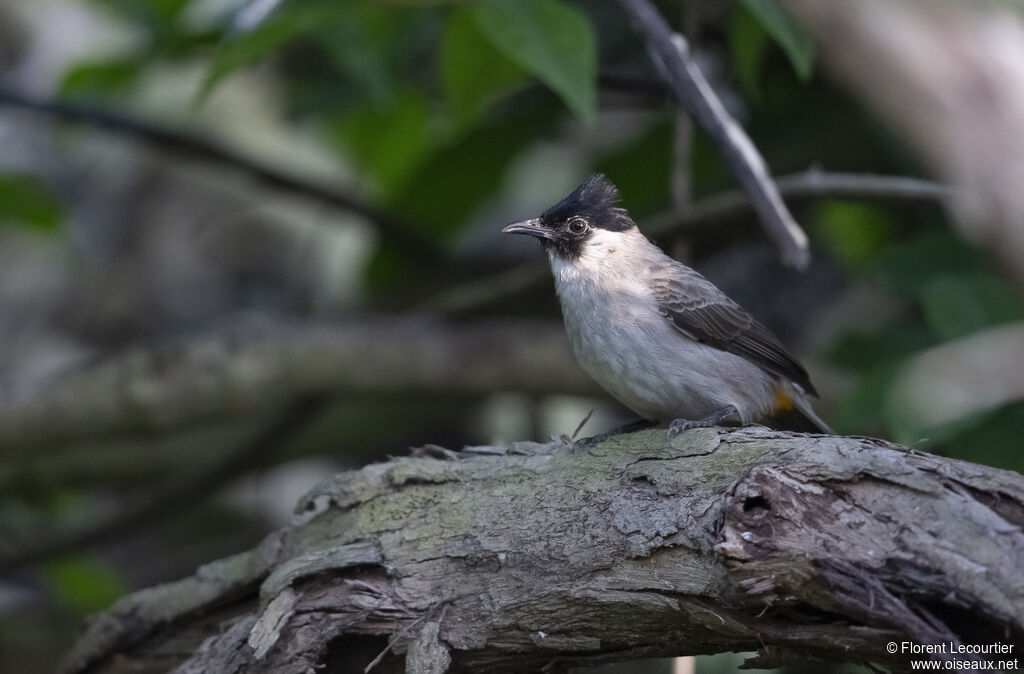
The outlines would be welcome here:
<svg viewBox="0 0 1024 674">
<path fill-rule="evenodd" d="M 680 103 L 718 144 L 719 152 L 750 196 L 782 261 L 797 268 L 810 261 L 807 235 L 790 213 L 768 175 L 764 159 L 742 127 L 725 110 L 689 53 L 648 0 L 618 0 L 647 44 L 651 60 Z"/>
</svg>

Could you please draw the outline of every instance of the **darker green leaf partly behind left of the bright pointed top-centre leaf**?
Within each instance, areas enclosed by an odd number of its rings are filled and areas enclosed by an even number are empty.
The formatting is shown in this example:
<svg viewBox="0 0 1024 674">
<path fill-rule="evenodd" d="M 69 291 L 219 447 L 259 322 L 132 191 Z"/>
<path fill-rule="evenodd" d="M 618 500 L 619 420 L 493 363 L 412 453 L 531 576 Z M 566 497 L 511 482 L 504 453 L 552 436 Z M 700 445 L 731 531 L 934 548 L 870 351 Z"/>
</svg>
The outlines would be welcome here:
<svg viewBox="0 0 1024 674">
<path fill-rule="evenodd" d="M 525 71 L 483 37 L 473 14 L 469 7 L 453 11 L 441 36 L 441 84 L 458 126 L 476 121 L 492 103 L 528 79 Z"/>
</svg>

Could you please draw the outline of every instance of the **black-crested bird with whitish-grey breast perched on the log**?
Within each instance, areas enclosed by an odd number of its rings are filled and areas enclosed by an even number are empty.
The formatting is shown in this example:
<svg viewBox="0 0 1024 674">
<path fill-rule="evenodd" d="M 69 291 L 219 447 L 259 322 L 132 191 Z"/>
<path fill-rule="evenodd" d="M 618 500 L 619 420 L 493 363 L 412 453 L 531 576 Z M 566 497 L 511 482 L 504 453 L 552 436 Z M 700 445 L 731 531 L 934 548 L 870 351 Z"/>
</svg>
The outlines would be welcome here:
<svg viewBox="0 0 1024 674">
<path fill-rule="evenodd" d="M 831 433 L 807 370 L 768 328 L 668 256 L 620 206 L 603 174 L 505 234 L 540 241 L 584 371 L 641 419 L 690 428 L 783 420 Z"/>
</svg>

